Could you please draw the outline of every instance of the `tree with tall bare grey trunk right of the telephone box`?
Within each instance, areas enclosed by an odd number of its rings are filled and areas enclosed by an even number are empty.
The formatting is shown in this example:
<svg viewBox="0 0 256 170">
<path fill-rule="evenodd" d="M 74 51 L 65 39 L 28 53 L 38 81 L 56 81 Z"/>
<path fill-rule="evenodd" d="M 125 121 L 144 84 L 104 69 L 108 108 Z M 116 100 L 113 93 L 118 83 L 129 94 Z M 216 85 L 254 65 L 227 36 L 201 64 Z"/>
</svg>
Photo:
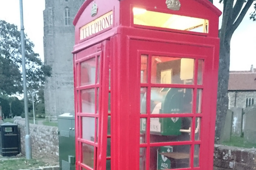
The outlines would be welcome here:
<svg viewBox="0 0 256 170">
<path fill-rule="evenodd" d="M 213 0 L 209 0 L 213 3 Z M 220 0 L 223 3 L 222 26 L 219 30 L 220 38 L 220 63 L 218 80 L 218 100 L 217 100 L 217 118 L 215 142 L 219 143 L 221 131 L 224 128 L 226 113 L 228 109 L 228 81 L 230 66 L 230 41 L 234 31 L 242 22 L 248 9 L 255 0 Z M 254 3 L 256 11 L 256 3 Z M 251 13 L 250 18 L 255 21 L 255 11 Z"/>
</svg>

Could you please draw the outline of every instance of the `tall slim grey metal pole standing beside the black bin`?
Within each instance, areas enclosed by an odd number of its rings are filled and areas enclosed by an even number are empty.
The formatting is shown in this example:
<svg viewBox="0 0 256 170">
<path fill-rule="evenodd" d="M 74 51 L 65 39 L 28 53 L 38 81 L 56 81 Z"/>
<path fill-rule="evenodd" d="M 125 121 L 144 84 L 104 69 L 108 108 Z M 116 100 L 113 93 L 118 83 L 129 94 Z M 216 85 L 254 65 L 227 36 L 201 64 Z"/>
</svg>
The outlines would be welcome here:
<svg viewBox="0 0 256 170">
<path fill-rule="evenodd" d="M 24 25 L 23 25 L 23 0 L 19 0 L 19 10 L 20 10 L 20 42 L 22 44 L 23 92 L 24 92 L 24 107 L 25 107 L 25 121 L 26 121 L 25 151 L 26 151 L 26 159 L 32 159 L 31 139 L 29 135 L 28 91 L 27 91 L 26 60 L 25 60 L 25 35 L 24 35 Z"/>
</svg>

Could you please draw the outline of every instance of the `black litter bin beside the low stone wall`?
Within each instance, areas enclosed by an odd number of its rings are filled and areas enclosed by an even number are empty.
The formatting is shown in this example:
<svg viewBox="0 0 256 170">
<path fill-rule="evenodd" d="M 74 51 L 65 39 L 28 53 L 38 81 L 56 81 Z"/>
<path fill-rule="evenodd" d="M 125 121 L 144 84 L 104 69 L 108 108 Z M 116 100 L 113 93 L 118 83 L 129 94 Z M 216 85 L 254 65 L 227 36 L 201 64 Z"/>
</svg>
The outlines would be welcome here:
<svg viewBox="0 0 256 170">
<path fill-rule="evenodd" d="M 18 126 L 5 123 L 0 126 L 0 155 L 16 156 L 19 154 Z"/>
</svg>

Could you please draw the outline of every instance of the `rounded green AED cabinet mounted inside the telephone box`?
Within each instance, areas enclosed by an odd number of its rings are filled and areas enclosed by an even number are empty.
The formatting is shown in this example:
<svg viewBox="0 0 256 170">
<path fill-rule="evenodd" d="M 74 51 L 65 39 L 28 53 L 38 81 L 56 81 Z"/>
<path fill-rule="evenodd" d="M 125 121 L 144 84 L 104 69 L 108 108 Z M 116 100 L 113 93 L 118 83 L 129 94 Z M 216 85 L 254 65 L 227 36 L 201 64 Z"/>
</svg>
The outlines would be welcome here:
<svg viewBox="0 0 256 170">
<path fill-rule="evenodd" d="M 168 114 L 168 113 L 183 113 L 183 89 L 163 88 L 160 92 L 151 93 L 151 113 L 152 114 Z M 159 97 L 160 96 L 160 97 Z M 163 99 L 158 104 L 153 104 L 154 99 Z M 144 95 L 141 108 L 146 107 L 146 94 Z M 141 131 L 146 130 L 145 119 L 141 120 Z M 178 136 L 181 135 L 182 119 L 179 117 L 172 118 L 151 118 L 150 133 L 163 136 Z"/>
</svg>

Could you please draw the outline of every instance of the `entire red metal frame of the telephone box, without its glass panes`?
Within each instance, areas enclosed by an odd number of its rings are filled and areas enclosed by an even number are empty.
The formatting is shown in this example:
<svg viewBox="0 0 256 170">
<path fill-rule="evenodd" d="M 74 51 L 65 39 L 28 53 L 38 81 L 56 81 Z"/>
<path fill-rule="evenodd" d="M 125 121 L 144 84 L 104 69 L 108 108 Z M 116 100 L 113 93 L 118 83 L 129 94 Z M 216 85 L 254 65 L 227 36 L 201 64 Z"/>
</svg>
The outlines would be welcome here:
<svg viewBox="0 0 256 170">
<path fill-rule="evenodd" d="M 111 160 L 112 170 L 139 169 L 139 148 L 163 145 L 189 144 L 191 168 L 183 169 L 212 169 L 215 111 L 218 82 L 219 39 L 218 20 L 221 12 L 207 0 L 180 0 L 180 11 L 172 11 L 166 8 L 165 0 L 95 0 L 98 5 L 98 14 L 90 16 L 93 0 L 84 2 L 75 19 L 75 46 L 74 46 L 74 82 L 75 82 L 75 106 L 76 106 L 76 164 L 92 169 L 81 164 L 81 118 L 92 114 L 81 113 L 81 93 L 84 88 L 99 88 L 99 131 L 98 155 L 95 158 L 96 169 L 105 170 L 106 160 Z M 195 33 L 172 29 L 143 27 L 133 24 L 133 7 L 142 7 L 152 11 L 170 14 L 200 17 L 209 20 L 209 32 Z M 112 28 L 101 31 L 91 37 L 79 40 L 79 28 L 95 18 L 113 10 L 114 23 Z M 105 41 L 106 40 L 106 41 Z M 96 44 L 96 45 L 95 45 Z M 172 44 L 166 47 L 166 44 Z M 101 55 L 101 81 L 98 85 L 80 87 L 80 62 L 89 59 L 98 51 Z M 159 55 L 180 58 L 195 59 L 195 74 L 193 85 L 181 84 L 153 84 L 148 77 L 148 83 L 140 83 L 140 55 Z M 85 58 L 88 56 L 87 58 Z M 148 57 L 150 58 L 150 57 Z M 198 61 L 204 60 L 203 84 L 197 85 Z M 97 60 L 96 60 L 97 61 Z M 151 66 L 148 59 L 148 65 Z M 97 65 L 97 64 L 96 64 Z M 111 68 L 111 90 L 109 90 L 109 69 Z M 97 70 L 97 69 L 96 69 Z M 150 75 L 150 69 L 147 72 Z M 78 80 L 77 80 L 78 79 Z M 97 79 L 96 79 L 97 80 Z M 197 89 L 203 89 L 202 113 L 196 113 L 196 102 L 193 102 L 192 113 L 184 114 L 140 114 L 140 88 L 147 87 L 150 94 L 151 87 L 192 88 L 194 89 L 193 101 L 196 101 Z M 78 91 L 78 94 L 77 94 Z M 111 92 L 111 113 L 108 113 L 108 96 Z M 77 96 L 78 95 L 78 96 Z M 150 95 L 147 95 L 149 101 Z M 78 102 L 79 101 L 79 102 Z M 147 103 L 147 107 L 149 107 Z M 148 108 L 147 108 L 148 109 Z M 107 135 L 108 116 L 111 116 L 111 135 Z M 147 143 L 140 144 L 140 118 L 150 117 L 191 117 L 191 129 L 195 130 L 196 118 L 201 118 L 200 140 L 195 140 L 191 133 L 191 140 L 179 142 L 150 143 L 150 126 L 147 126 Z M 96 133 L 96 131 L 95 131 Z M 111 157 L 106 158 L 106 139 L 111 138 Z M 86 141 L 87 142 L 87 141 Z M 91 142 L 89 142 L 91 143 Z M 193 167 L 194 145 L 200 144 L 200 166 Z M 96 156 L 96 155 L 95 155 Z M 150 150 L 146 151 L 146 170 L 149 169 L 148 160 Z"/>
</svg>

